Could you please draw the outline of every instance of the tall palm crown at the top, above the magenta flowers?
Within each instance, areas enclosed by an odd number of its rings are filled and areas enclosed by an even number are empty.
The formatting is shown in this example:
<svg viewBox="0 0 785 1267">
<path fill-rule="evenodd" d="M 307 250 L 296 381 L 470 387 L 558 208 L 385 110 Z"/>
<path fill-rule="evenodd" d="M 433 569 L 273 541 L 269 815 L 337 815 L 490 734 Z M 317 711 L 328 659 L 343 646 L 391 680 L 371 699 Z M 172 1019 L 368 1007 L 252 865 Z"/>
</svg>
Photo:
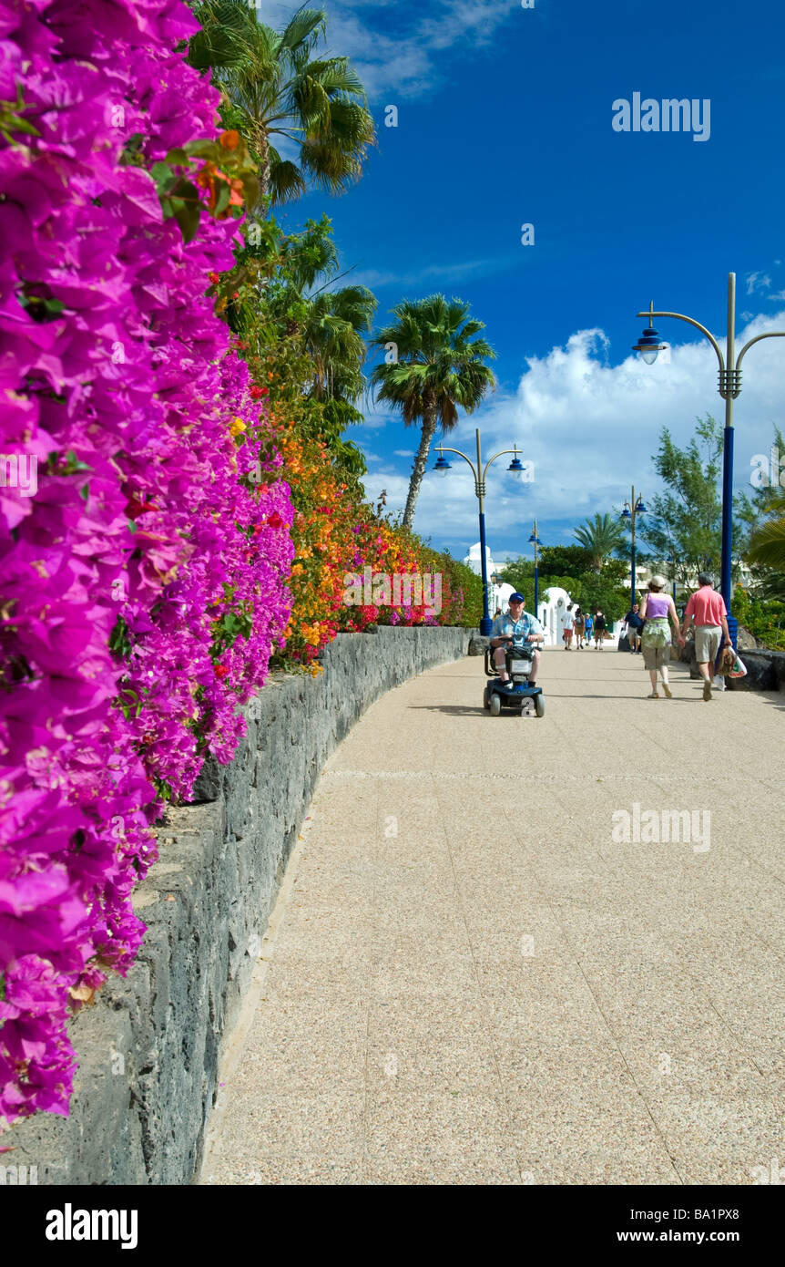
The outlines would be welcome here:
<svg viewBox="0 0 785 1267">
<path fill-rule="evenodd" d="M 257 22 L 248 0 L 200 0 L 201 23 L 189 62 L 211 70 L 224 92 L 224 124 L 248 142 L 260 165 L 261 196 L 285 203 L 314 181 L 330 194 L 362 172 L 375 139 L 365 90 L 347 57 L 314 57 L 324 37 L 322 9 L 299 9 L 280 34 Z M 281 158 L 272 138 L 298 147 Z"/>
</svg>

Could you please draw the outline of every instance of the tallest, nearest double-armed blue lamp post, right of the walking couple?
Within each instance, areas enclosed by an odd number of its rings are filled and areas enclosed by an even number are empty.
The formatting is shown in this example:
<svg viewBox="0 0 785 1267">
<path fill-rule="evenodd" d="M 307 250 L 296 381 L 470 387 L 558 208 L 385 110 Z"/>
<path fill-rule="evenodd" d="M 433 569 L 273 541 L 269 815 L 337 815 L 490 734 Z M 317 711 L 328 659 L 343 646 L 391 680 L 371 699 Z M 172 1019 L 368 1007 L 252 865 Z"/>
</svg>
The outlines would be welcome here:
<svg viewBox="0 0 785 1267">
<path fill-rule="evenodd" d="M 733 535 L 733 402 L 742 389 L 742 360 L 748 348 L 761 338 L 785 338 L 785 329 L 772 329 L 766 334 L 756 334 L 748 340 L 736 356 L 736 274 L 728 274 L 728 329 L 725 336 L 725 356 L 710 331 L 693 317 L 684 313 L 655 312 L 653 302 L 648 305 L 648 312 L 637 314 L 648 317 L 648 327 L 633 346 L 633 352 L 639 352 L 647 365 L 653 365 L 657 353 L 665 347 L 660 342 L 660 334 L 655 329 L 655 317 L 674 317 L 676 321 L 686 321 L 695 326 L 701 334 L 705 334 L 712 347 L 717 352 L 719 362 L 719 394 L 725 402 L 725 432 L 723 443 L 723 480 L 722 480 L 722 559 L 720 559 L 720 590 L 728 609 L 728 631 L 736 646 L 737 625 L 731 616 L 731 538 Z"/>
</svg>

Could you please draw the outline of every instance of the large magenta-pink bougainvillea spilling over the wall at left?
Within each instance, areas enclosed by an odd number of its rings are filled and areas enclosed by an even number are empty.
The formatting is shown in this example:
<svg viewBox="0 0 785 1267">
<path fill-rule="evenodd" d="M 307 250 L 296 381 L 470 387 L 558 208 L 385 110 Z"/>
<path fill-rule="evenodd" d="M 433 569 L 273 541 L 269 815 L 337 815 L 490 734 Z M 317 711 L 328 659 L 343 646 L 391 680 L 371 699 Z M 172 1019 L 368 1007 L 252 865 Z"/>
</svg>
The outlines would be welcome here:
<svg viewBox="0 0 785 1267">
<path fill-rule="evenodd" d="M 217 92 L 175 52 L 194 29 L 180 0 L 0 0 L 11 1123 L 67 1112 L 66 1021 L 138 950 L 130 900 L 156 856 L 149 825 L 162 797 L 187 796 L 205 751 L 232 756 L 238 704 L 290 614 L 281 459 L 206 295 L 209 274 L 232 266 L 237 220 L 210 214 L 215 180 L 198 180 L 185 242 L 151 175 L 173 147 L 217 136 Z M 11 478 L 23 466 L 34 489 Z"/>
</svg>

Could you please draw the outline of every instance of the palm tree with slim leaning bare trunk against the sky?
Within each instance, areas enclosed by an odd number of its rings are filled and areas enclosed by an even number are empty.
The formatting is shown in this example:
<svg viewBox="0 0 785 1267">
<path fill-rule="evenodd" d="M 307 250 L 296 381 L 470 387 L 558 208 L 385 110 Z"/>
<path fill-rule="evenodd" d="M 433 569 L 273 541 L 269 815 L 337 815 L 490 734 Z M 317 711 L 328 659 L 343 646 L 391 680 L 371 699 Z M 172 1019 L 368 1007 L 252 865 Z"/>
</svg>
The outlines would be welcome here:
<svg viewBox="0 0 785 1267">
<path fill-rule="evenodd" d="M 461 299 L 447 302 L 444 295 L 429 295 L 404 300 L 392 315 L 395 322 L 380 331 L 371 346 L 395 345 L 395 360 L 377 365 L 371 383 L 379 386 L 379 400 L 389 400 L 401 411 L 406 427 L 423 428 L 403 519 L 404 528 L 411 528 L 437 424 L 442 432 L 452 431 L 458 405 L 466 413 L 477 408 L 495 385 L 484 360 L 494 360 L 496 353 L 484 338 L 472 342 L 485 326 L 468 317 L 468 304 Z"/>
</svg>

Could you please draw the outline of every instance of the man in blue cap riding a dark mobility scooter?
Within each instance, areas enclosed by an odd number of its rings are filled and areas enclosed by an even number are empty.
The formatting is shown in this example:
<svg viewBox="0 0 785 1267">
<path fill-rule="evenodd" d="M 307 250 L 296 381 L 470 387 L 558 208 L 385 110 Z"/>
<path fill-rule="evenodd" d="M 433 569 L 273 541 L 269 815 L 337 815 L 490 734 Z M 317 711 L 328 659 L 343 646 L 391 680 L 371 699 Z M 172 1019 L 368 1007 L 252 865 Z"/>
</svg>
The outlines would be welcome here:
<svg viewBox="0 0 785 1267">
<path fill-rule="evenodd" d="M 533 707 L 542 717 L 546 702 L 542 688 L 534 685 L 541 659 L 534 644 L 543 642 L 544 636 L 539 622 L 524 611 L 523 594 L 510 594 L 509 606 L 509 612 L 494 621 L 490 646 L 485 651 L 485 674 L 493 680 L 485 687 L 482 703 L 493 717 L 498 717 L 503 707 L 519 713 Z M 489 668 L 491 651 L 495 670 Z"/>
</svg>

